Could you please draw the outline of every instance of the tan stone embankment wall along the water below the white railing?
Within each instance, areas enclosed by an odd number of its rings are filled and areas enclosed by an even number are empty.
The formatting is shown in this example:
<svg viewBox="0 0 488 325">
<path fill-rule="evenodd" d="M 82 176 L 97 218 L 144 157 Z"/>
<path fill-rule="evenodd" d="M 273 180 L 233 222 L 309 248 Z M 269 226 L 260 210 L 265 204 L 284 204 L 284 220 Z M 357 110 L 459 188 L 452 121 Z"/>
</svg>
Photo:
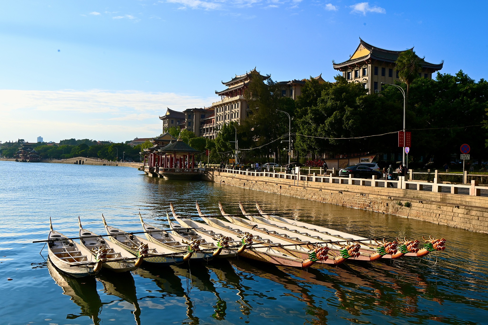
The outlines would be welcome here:
<svg viewBox="0 0 488 325">
<path fill-rule="evenodd" d="M 371 210 L 488 233 L 488 197 L 317 183 L 209 171 L 205 179 L 250 190 Z M 408 203 L 407 203 L 408 202 Z M 407 203 L 407 207 L 405 206 Z M 408 207 L 409 206 L 409 207 Z"/>
</svg>

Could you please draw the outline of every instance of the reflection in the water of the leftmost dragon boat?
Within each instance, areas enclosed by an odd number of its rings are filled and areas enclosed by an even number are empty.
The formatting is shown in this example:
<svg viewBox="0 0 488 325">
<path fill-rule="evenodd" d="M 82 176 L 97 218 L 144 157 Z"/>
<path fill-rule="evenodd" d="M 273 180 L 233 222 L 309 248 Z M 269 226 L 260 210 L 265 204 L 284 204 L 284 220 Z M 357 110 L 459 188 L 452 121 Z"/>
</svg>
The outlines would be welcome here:
<svg viewBox="0 0 488 325">
<path fill-rule="evenodd" d="M 93 324 L 99 325 L 102 301 L 97 292 L 97 282 L 94 277 L 74 278 L 61 273 L 54 267 L 51 260 L 47 261 L 49 274 L 58 286 L 63 289 L 63 294 L 70 296 L 71 300 L 81 308 L 79 314 L 68 314 L 67 319 L 75 319 L 80 316 L 88 316 Z"/>
</svg>

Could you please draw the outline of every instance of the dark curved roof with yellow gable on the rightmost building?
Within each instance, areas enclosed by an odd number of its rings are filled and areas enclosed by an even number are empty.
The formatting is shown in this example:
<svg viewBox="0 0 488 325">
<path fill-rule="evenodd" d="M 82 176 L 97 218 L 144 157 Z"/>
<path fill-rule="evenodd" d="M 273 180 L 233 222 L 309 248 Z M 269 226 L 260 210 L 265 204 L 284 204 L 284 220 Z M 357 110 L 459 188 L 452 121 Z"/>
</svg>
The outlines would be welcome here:
<svg viewBox="0 0 488 325">
<path fill-rule="evenodd" d="M 374 47 L 373 45 L 368 44 L 363 39 L 359 38 L 359 45 L 356 48 L 356 51 L 354 51 L 354 54 L 348 60 L 341 63 L 335 63 L 335 61 L 332 60 L 332 64 L 335 70 L 343 71 L 350 69 L 350 67 L 354 65 L 362 65 L 364 64 L 364 61 L 368 63 L 374 61 L 394 63 L 400 53 L 405 51 L 413 51 L 413 47 L 401 51 L 386 50 L 379 47 Z M 443 65 L 444 61 L 438 64 L 426 61 L 422 66 L 433 71 L 438 71 L 442 69 Z"/>
</svg>

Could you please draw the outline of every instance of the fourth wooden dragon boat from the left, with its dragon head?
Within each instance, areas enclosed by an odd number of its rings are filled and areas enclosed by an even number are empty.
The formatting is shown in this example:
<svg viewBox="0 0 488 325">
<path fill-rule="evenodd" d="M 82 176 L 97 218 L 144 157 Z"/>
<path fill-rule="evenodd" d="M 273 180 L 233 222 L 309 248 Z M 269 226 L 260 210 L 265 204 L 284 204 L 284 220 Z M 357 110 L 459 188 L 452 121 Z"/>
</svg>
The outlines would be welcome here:
<svg viewBox="0 0 488 325">
<path fill-rule="evenodd" d="M 146 238 L 154 244 L 163 245 L 167 249 L 171 249 L 176 253 L 184 252 L 189 255 L 191 260 L 211 260 L 213 254 L 211 252 L 202 252 L 200 245 L 203 241 L 199 238 L 188 240 L 186 238 L 178 237 L 172 232 L 164 231 L 155 226 L 144 223 L 142 220 L 142 215 L 139 213 L 139 219 L 141 220 L 141 225 L 146 232 Z M 188 258 L 185 255 L 185 261 Z"/>
</svg>

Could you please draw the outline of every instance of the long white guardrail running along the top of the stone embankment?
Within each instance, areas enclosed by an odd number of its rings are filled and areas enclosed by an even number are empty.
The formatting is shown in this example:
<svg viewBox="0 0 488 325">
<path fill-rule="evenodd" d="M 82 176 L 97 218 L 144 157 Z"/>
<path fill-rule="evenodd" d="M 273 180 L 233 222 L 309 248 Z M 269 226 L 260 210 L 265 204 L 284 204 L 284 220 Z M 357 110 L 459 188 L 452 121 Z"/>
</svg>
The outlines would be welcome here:
<svg viewBox="0 0 488 325">
<path fill-rule="evenodd" d="M 375 175 L 372 178 L 353 178 L 352 175 L 349 177 L 340 177 L 329 175 L 317 175 L 315 173 L 309 174 L 286 174 L 284 172 L 273 172 L 273 171 L 249 171 L 249 170 L 233 170 L 233 169 L 214 169 L 219 172 L 225 172 L 230 174 L 240 174 L 258 177 L 270 177 L 279 179 L 288 179 L 294 181 L 306 181 L 306 182 L 317 182 L 317 183 L 334 183 L 334 184 L 348 184 L 348 185 L 359 185 L 359 186 L 370 186 L 370 187 L 393 187 L 397 189 L 404 190 L 416 190 L 416 191 L 432 191 L 439 193 L 450 193 L 450 194 L 468 194 L 474 196 L 480 196 L 481 190 L 487 191 L 488 188 L 485 186 L 479 186 L 479 182 L 472 180 L 471 184 L 444 184 L 438 183 L 437 178 L 434 178 L 433 182 L 427 181 L 407 181 L 405 176 L 399 176 L 399 180 L 386 180 L 377 179 Z M 297 182 L 298 185 L 298 182 Z"/>
</svg>

